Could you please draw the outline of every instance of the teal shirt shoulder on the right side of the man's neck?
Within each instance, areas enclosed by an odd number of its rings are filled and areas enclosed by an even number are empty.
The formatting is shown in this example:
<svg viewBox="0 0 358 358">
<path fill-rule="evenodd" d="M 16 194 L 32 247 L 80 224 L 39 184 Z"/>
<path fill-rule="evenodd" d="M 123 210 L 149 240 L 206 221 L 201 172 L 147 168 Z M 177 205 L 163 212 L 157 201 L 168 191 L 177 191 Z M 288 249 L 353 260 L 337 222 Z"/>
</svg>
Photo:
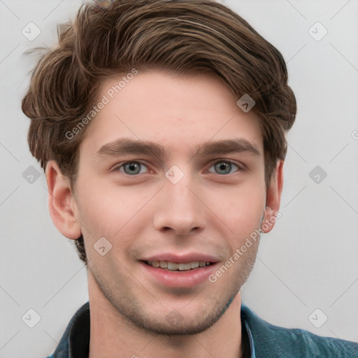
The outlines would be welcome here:
<svg viewBox="0 0 358 358">
<path fill-rule="evenodd" d="M 358 358 L 358 343 L 278 327 L 262 320 L 247 306 L 242 306 L 241 316 L 251 331 L 257 357 L 275 352 L 275 357 Z"/>
</svg>

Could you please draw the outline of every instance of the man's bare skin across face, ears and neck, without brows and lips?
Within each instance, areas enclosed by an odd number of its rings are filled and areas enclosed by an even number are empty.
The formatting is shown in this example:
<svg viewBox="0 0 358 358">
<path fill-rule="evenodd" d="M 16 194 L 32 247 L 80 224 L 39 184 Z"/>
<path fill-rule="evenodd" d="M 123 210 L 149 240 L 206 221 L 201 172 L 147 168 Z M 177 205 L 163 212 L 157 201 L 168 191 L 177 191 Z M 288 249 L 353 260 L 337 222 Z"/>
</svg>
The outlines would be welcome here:
<svg viewBox="0 0 358 358">
<path fill-rule="evenodd" d="M 121 77 L 106 80 L 99 99 Z M 194 287 L 166 287 L 138 262 L 158 252 L 203 252 L 224 264 L 279 210 L 283 162 L 266 188 L 259 119 L 236 101 L 214 76 L 138 73 L 88 128 L 73 188 L 57 163 L 48 162 L 52 221 L 67 238 L 82 232 L 85 239 L 90 358 L 242 357 L 240 289 L 259 240 L 216 282 Z M 97 154 L 119 138 L 153 141 L 167 155 Z M 232 138 L 249 141 L 259 155 L 196 154 L 203 141 Z M 220 160 L 232 163 L 228 173 L 215 166 Z M 121 166 L 128 161 L 143 163 L 140 172 Z M 174 165 L 184 173 L 175 185 L 164 175 Z M 103 236 L 112 245 L 105 256 L 94 250 Z M 173 309 L 177 325 L 166 320 Z"/>
</svg>

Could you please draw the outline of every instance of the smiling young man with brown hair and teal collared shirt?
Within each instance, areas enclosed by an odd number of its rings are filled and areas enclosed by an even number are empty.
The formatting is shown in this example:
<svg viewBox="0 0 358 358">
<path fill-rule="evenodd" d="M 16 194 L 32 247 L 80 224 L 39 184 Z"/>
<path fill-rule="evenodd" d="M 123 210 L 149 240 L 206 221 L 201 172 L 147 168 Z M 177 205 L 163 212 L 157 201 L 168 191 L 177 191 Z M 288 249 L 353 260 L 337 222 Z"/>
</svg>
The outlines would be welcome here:
<svg viewBox="0 0 358 358">
<path fill-rule="evenodd" d="M 87 4 L 59 29 L 22 110 L 90 301 L 50 357 L 358 357 L 241 302 L 296 115 L 280 52 L 206 0 Z"/>
</svg>

